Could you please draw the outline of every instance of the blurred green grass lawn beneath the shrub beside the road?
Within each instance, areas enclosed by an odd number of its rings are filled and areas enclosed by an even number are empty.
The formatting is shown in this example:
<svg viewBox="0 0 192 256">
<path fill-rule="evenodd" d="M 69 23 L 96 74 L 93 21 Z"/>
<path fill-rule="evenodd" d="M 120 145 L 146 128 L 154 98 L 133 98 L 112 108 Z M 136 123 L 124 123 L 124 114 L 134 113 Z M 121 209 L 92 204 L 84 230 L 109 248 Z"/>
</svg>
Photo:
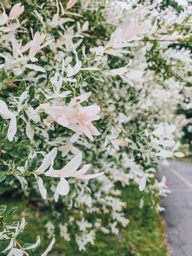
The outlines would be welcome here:
<svg viewBox="0 0 192 256">
<path fill-rule="evenodd" d="M 145 205 L 139 209 L 140 199 L 145 196 Z M 79 252 L 74 240 L 66 242 L 59 235 L 56 236 L 54 245 L 49 256 L 166 256 L 167 245 L 165 243 L 164 227 L 155 209 L 147 205 L 151 199 L 150 195 L 138 191 L 137 186 L 127 186 L 123 189 L 123 200 L 127 202 L 125 216 L 130 220 L 129 225 L 121 230 L 118 236 L 104 235 L 98 233 L 94 246 L 88 245 L 85 252 Z M 18 237 L 20 244 L 35 243 L 36 236 L 40 234 L 40 248 L 33 254 L 39 256 L 51 241 L 48 239 L 44 227 L 45 216 L 36 217 L 37 209 L 27 207 L 27 201 L 11 201 L 2 198 L 0 204 L 7 204 L 8 209 L 17 206 L 18 211 L 9 216 L 9 220 L 18 220 L 21 212 L 27 212 L 25 220 L 29 223 L 24 232 Z M 6 221 L 6 220 L 5 220 Z M 6 247 L 0 243 L 0 249 Z"/>
</svg>

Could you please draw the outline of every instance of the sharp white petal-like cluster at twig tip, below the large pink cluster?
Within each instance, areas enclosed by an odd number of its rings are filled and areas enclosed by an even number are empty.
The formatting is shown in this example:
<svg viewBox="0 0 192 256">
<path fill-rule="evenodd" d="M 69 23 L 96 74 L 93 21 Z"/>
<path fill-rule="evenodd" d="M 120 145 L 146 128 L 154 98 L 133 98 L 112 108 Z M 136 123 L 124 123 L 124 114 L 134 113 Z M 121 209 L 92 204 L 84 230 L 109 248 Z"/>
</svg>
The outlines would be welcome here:
<svg viewBox="0 0 192 256">
<path fill-rule="evenodd" d="M 49 171 L 45 173 L 45 175 L 49 177 L 60 178 L 60 182 L 56 187 L 56 192 L 59 195 L 67 195 L 69 193 L 69 183 L 65 179 L 67 177 L 74 177 L 74 178 L 84 180 L 84 179 L 93 179 L 93 178 L 99 177 L 104 173 L 104 172 L 100 172 L 100 173 L 84 175 L 88 171 L 90 164 L 85 164 L 83 168 L 77 171 L 81 162 L 82 162 L 81 153 L 79 153 L 74 158 L 72 158 L 71 161 L 68 164 L 66 164 L 61 170 L 54 170 L 52 167 L 53 166 L 53 161 L 52 161 L 51 167 L 49 168 Z"/>
</svg>

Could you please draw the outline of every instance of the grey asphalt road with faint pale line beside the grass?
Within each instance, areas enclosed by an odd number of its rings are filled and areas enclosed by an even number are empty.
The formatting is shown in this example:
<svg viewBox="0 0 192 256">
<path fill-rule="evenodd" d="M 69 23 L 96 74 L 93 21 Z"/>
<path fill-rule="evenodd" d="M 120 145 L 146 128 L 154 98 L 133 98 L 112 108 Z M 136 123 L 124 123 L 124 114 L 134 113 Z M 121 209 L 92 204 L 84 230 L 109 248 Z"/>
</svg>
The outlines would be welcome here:
<svg viewBox="0 0 192 256">
<path fill-rule="evenodd" d="M 165 220 L 171 256 L 192 256 L 192 164 L 169 161 L 157 173 L 166 176 L 171 194 L 163 198 L 161 213 Z"/>
</svg>

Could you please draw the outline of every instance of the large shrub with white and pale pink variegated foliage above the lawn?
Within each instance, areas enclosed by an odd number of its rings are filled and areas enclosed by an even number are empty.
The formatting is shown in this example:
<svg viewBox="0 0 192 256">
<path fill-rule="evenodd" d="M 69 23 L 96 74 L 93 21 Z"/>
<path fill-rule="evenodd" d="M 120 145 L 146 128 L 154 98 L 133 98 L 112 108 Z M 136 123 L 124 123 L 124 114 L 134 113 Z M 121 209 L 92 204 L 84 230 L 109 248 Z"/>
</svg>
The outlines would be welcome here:
<svg viewBox="0 0 192 256">
<path fill-rule="evenodd" d="M 118 234 L 129 223 L 117 182 L 155 197 L 169 192 L 153 178 L 161 158 L 183 156 L 176 139 L 187 120 L 176 108 L 186 108 L 181 91 L 190 82 L 190 51 L 180 47 L 190 8 L 177 13 L 159 0 L 1 5 L 2 193 L 17 193 L 18 180 L 56 216 L 47 220 L 49 238 L 56 229 L 85 250 L 98 230 Z M 161 210 L 154 200 L 151 207 Z M 39 237 L 16 241 L 24 218 L 8 225 L 2 216 L 1 224 L 8 255 L 38 248 Z"/>
</svg>

